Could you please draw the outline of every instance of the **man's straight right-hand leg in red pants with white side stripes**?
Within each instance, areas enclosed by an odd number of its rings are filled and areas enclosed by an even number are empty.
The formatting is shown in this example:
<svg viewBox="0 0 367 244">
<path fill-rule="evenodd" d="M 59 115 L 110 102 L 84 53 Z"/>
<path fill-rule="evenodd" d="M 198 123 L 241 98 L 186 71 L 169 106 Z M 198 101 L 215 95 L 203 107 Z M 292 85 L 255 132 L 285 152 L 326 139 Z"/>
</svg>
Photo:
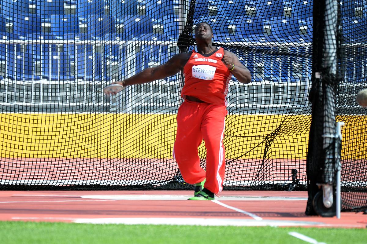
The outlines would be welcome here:
<svg viewBox="0 0 367 244">
<path fill-rule="evenodd" d="M 203 116 L 201 133 L 203 133 L 207 150 L 206 182 L 204 188 L 218 194 L 222 191 L 225 173 L 225 150 L 223 145 L 225 106 L 211 105 Z"/>
</svg>

